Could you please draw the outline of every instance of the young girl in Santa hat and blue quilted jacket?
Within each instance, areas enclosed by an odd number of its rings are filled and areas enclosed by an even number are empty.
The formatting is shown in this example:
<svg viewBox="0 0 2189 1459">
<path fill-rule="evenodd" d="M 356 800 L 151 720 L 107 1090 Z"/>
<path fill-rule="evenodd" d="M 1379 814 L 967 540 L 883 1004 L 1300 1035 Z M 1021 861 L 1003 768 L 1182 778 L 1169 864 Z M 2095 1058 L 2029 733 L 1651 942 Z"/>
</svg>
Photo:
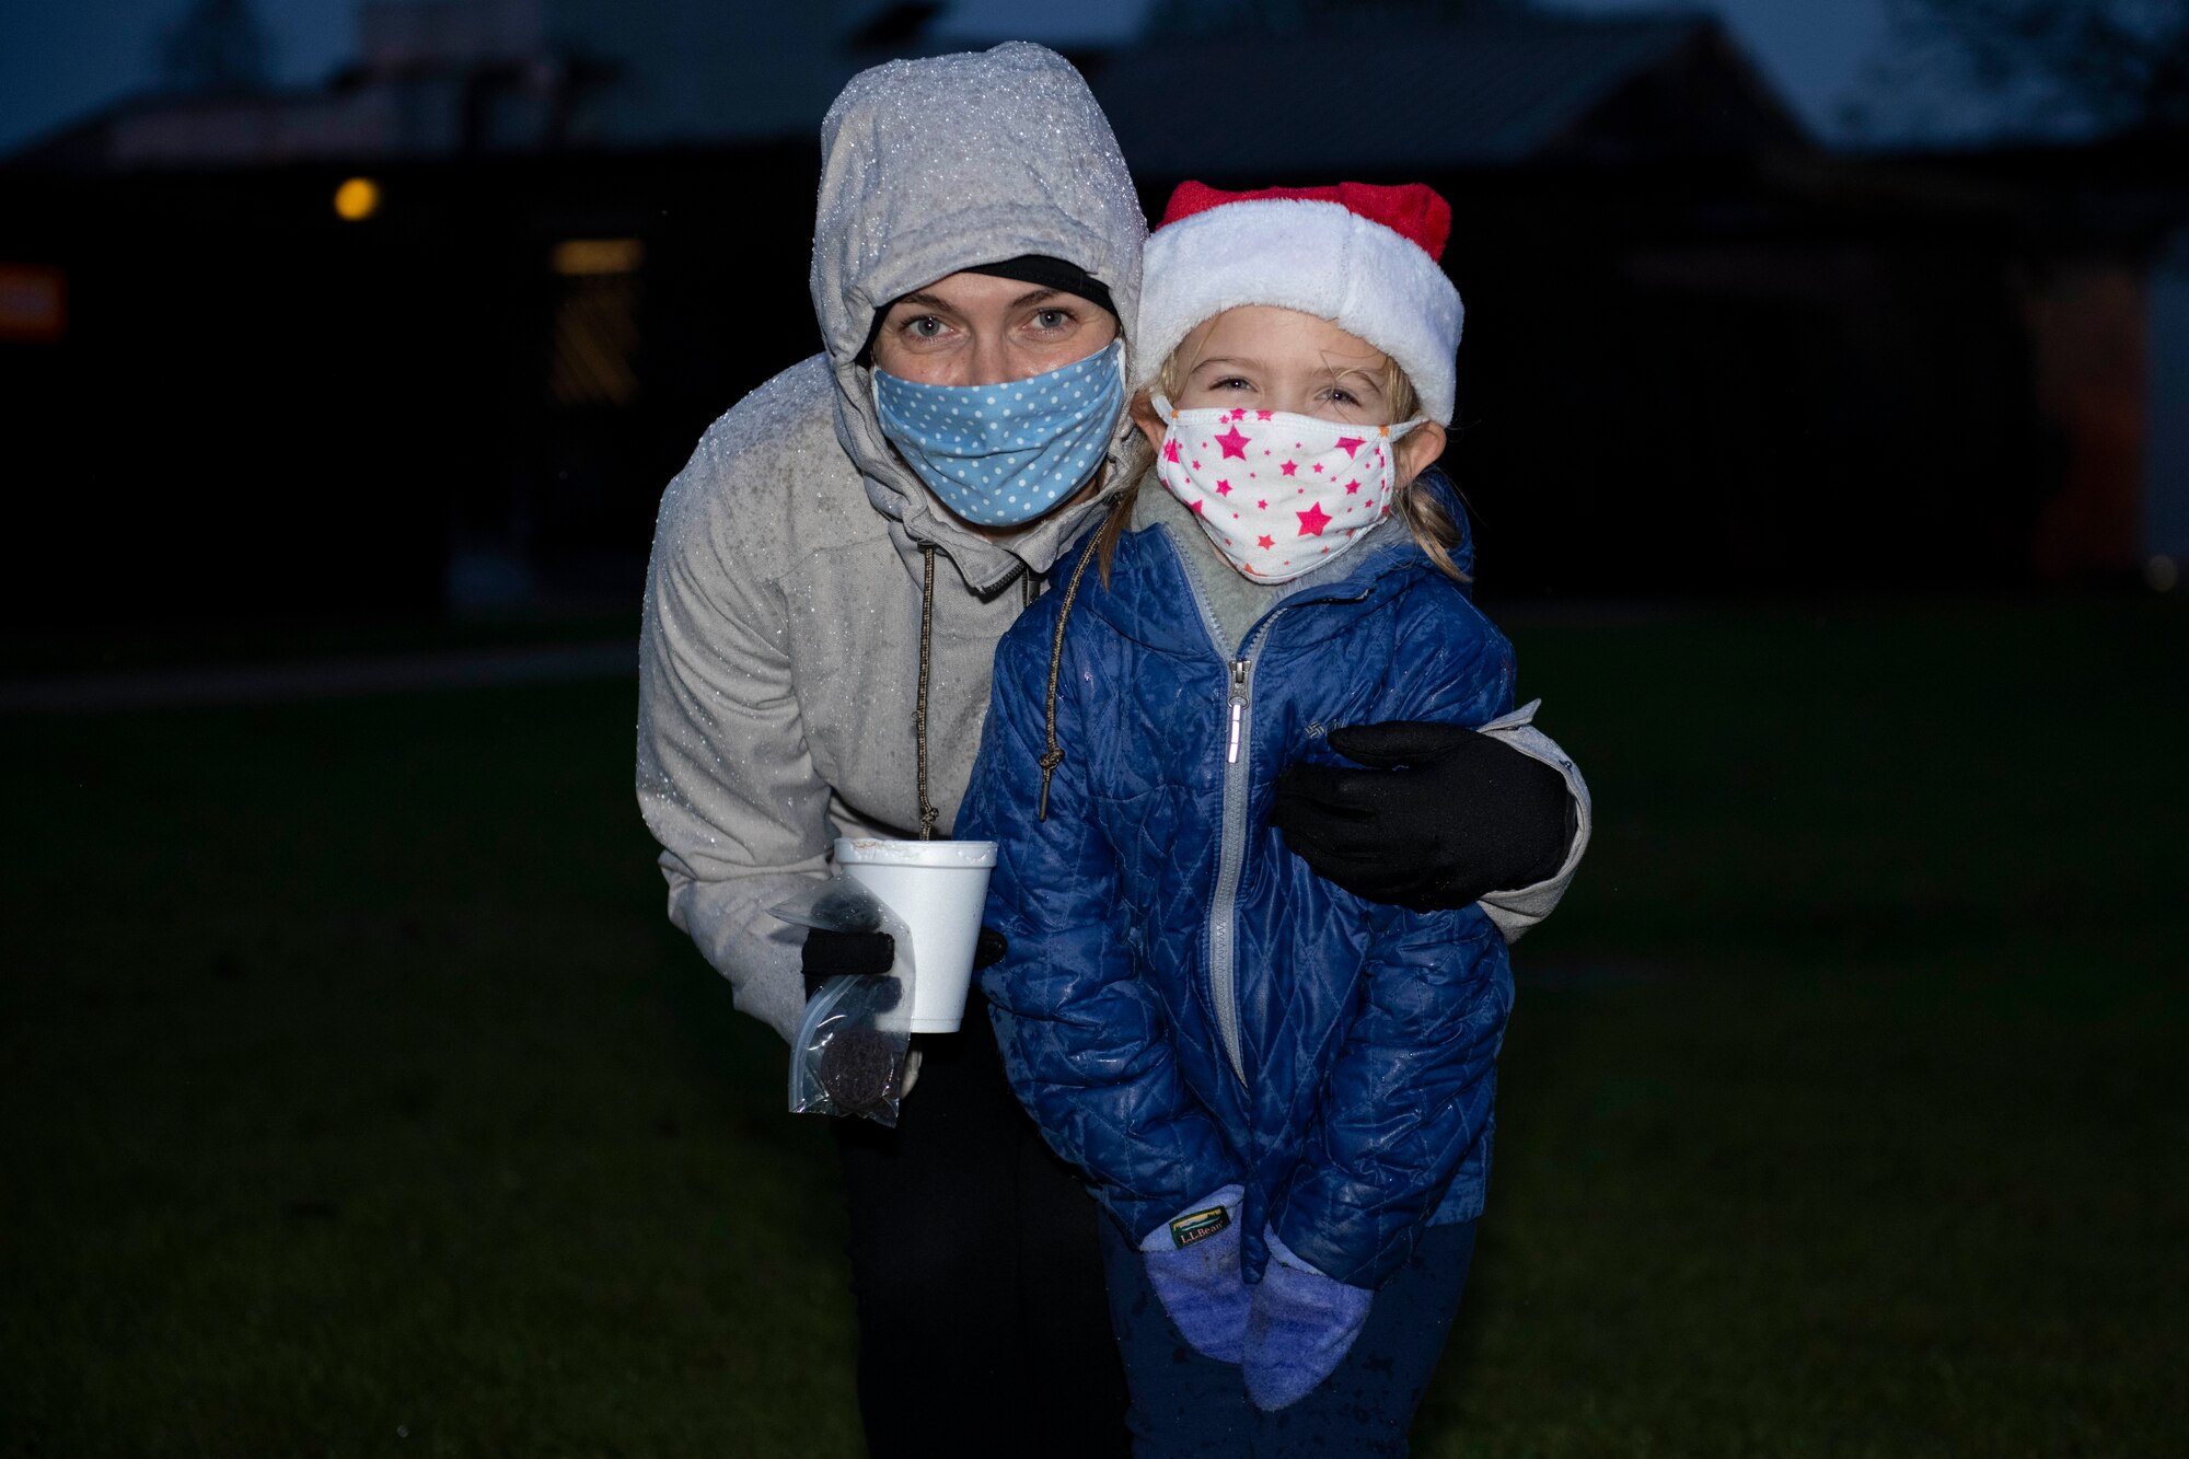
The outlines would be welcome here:
<svg viewBox="0 0 2189 1459">
<path fill-rule="evenodd" d="M 1011 1084 L 1114 1218 L 1140 1452 L 1405 1452 L 1467 1279 L 1504 940 L 1320 881 L 1267 824 L 1287 765 L 1340 762 L 1327 725 L 1513 708 L 1423 475 L 1449 219 L 1425 186 L 1178 188 L 1134 333 L 1160 489 L 996 655 L 957 835 L 1003 843 Z"/>
</svg>

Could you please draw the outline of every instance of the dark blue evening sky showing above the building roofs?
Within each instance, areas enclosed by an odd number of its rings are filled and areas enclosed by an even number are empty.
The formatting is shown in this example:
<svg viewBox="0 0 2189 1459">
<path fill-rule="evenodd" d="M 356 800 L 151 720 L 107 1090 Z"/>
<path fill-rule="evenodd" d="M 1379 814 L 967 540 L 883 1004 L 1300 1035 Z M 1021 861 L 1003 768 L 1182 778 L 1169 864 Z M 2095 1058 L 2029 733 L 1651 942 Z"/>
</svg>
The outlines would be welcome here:
<svg viewBox="0 0 2189 1459">
<path fill-rule="evenodd" d="M 1011 0 L 972 0 L 983 20 Z M 1143 0 L 1145 4 L 1145 0 Z M 1559 0 L 1578 11 L 1666 9 L 1661 0 Z M 278 77 L 311 85 L 352 53 L 355 0 L 256 0 L 274 33 Z M 1718 11 L 1804 118 L 1823 136 L 1885 37 L 1885 0 L 1688 0 Z M 66 125 L 155 74 L 160 31 L 186 0 L 0 0 L 0 151 Z M 1088 18 L 1136 0 L 1029 0 L 1029 39 L 1062 11 Z M 819 120 L 819 118 L 816 118 Z"/>
</svg>

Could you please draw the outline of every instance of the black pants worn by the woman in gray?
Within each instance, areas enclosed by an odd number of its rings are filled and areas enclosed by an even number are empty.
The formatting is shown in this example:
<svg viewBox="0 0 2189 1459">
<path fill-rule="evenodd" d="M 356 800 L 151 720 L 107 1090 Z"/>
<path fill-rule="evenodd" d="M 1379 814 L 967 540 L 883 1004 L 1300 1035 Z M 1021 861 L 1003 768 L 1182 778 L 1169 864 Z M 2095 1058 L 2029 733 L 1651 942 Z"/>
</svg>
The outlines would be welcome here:
<svg viewBox="0 0 2189 1459">
<path fill-rule="evenodd" d="M 1011 1098 L 978 990 L 897 1128 L 832 1119 L 873 1459 L 1125 1455 L 1094 1200 Z"/>
</svg>

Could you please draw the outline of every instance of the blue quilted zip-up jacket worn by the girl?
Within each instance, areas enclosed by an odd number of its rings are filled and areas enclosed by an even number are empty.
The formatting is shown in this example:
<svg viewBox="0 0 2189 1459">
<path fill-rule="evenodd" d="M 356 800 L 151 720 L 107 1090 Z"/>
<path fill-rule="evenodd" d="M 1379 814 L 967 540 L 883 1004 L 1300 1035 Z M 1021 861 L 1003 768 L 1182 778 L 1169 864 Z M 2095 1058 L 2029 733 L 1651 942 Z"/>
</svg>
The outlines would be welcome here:
<svg viewBox="0 0 2189 1459">
<path fill-rule="evenodd" d="M 1504 714 L 1513 651 L 1397 524 L 1237 657 L 1180 552 L 1160 524 L 1125 535 L 1108 587 L 1044 594 L 996 651 L 957 822 L 1000 841 L 987 916 L 1011 951 L 983 990 L 1011 1087 L 1125 1231 L 1237 1181 L 1250 1277 L 1270 1222 L 1373 1288 L 1482 1209 L 1506 944 L 1478 907 L 1322 881 L 1267 828 L 1272 789 L 1342 762 L 1327 725 Z"/>
</svg>

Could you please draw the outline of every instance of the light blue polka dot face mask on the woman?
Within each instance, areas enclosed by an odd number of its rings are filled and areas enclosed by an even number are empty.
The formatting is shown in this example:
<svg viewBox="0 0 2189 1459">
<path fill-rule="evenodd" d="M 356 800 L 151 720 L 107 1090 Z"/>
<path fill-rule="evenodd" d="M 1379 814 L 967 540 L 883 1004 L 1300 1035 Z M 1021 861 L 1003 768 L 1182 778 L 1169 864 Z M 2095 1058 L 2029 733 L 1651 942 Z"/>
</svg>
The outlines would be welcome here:
<svg viewBox="0 0 2189 1459">
<path fill-rule="evenodd" d="M 943 506 L 978 526 L 1020 526 L 1101 464 L 1125 410 L 1125 344 L 1003 386 L 922 386 L 873 370 L 873 410 Z"/>
</svg>

